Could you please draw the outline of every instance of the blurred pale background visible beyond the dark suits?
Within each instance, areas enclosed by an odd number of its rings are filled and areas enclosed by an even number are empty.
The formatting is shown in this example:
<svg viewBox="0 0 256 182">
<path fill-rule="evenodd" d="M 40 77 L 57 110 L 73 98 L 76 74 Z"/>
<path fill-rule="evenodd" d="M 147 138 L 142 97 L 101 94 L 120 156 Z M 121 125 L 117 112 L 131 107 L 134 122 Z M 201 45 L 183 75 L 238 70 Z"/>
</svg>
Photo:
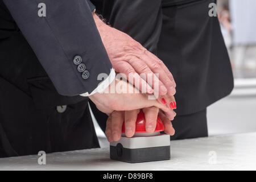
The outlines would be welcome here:
<svg viewBox="0 0 256 182">
<path fill-rule="evenodd" d="M 218 19 L 234 74 L 230 96 L 208 107 L 209 135 L 256 131 L 256 1 L 217 0 Z M 101 147 L 105 135 L 94 120 Z"/>
</svg>

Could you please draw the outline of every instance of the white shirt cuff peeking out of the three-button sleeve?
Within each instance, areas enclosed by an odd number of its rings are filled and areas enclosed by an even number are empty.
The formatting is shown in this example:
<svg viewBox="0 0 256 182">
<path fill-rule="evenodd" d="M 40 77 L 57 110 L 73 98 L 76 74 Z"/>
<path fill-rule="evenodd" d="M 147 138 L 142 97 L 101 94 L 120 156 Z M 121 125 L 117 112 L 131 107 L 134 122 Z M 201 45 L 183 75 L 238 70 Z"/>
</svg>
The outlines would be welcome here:
<svg viewBox="0 0 256 182">
<path fill-rule="evenodd" d="M 108 88 L 108 86 L 112 83 L 112 81 L 114 81 L 114 79 L 115 79 L 115 70 L 112 68 L 109 73 L 109 76 L 106 77 L 106 79 L 102 81 L 100 84 L 98 84 L 97 88 L 94 89 L 93 92 L 91 92 L 90 94 L 88 92 L 82 93 L 80 94 L 80 96 L 88 97 L 88 96 L 92 96 L 94 93 L 103 92 L 106 88 Z"/>
</svg>

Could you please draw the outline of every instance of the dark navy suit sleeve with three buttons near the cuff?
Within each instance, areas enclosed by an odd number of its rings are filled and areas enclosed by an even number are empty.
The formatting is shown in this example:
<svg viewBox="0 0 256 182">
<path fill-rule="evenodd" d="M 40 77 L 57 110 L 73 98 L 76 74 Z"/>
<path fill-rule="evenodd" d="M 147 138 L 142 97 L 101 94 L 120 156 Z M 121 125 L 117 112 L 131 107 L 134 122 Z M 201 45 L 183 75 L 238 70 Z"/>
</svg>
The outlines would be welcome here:
<svg viewBox="0 0 256 182">
<path fill-rule="evenodd" d="M 91 93 L 109 75 L 112 64 L 92 17 L 93 4 L 85 0 L 3 0 L 51 78 L 57 91 L 65 96 Z M 39 3 L 46 5 L 46 16 L 40 17 Z M 89 71 L 82 78 L 75 56 L 81 56 Z"/>
</svg>

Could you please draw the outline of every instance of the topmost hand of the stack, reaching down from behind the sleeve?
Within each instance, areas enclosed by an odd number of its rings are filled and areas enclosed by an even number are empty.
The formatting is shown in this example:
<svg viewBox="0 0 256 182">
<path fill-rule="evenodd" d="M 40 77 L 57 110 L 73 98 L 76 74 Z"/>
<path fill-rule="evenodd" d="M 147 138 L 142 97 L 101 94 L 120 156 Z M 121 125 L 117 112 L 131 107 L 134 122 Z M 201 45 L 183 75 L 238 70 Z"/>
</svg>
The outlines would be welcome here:
<svg viewBox="0 0 256 182">
<path fill-rule="evenodd" d="M 154 89 L 162 96 L 175 94 L 174 77 L 158 57 L 129 35 L 106 25 L 96 14 L 93 14 L 93 18 L 115 71 L 125 74 L 130 82 L 140 80 L 139 90 L 147 88 L 146 92 L 152 93 Z M 147 83 L 147 78 L 139 76 L 141 73 L 151 73 L 152 83 Z M 154 85 L 154 73 L 159 74 L 156 78 L 159 81 L 158 88 Z M 129 74 L 132 77 L 129 78 Z M 163 104 L 162 99 L 159 101 Z"/>
</svg>

